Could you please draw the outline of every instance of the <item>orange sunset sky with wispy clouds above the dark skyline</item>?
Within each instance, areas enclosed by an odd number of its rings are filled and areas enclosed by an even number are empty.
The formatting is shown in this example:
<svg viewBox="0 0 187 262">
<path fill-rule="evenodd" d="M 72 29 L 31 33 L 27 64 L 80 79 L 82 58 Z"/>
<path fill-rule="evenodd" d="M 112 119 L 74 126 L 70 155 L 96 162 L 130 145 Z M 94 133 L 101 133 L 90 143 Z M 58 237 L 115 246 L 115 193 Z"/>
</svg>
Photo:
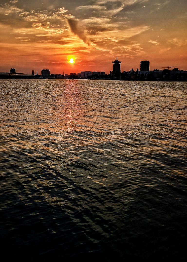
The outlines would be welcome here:
<svg viewBox="0 0 187 262">
<path fill-rule="evenodd" d="M 0 0 L 0 71 L 187 70 L 186 25 L 186 0 Z"/>
</svg>

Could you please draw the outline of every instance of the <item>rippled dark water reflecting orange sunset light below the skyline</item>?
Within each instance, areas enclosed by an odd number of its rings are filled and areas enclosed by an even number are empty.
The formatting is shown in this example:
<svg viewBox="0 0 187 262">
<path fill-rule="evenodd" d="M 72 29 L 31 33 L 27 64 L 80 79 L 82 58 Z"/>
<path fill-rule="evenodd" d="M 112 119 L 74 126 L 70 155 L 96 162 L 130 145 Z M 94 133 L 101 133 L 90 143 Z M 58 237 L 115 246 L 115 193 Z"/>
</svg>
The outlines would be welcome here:
<svg viewBox="0 0 187 262">
<path fill-rule="evenodd" d="M 186 258 L 186 83 L 0 85 L 1 256 Z"/>
</svg>

